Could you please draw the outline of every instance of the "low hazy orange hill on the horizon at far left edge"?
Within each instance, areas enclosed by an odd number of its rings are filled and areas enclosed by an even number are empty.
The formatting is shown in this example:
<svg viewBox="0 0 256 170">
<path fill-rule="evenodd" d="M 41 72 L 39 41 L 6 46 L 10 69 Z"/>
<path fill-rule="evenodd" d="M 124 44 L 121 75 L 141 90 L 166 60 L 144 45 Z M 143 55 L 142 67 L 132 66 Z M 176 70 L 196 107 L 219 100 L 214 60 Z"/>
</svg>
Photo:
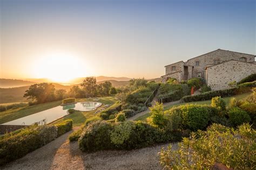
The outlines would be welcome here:
<svg viewBox="0 0 256 170">
<path fill-rule="evenodd" d="M 0 88 L 30 86 L 31 84 L 35 84 L 35 82 L 17 79 L 0 79 Z"/>
</svg>

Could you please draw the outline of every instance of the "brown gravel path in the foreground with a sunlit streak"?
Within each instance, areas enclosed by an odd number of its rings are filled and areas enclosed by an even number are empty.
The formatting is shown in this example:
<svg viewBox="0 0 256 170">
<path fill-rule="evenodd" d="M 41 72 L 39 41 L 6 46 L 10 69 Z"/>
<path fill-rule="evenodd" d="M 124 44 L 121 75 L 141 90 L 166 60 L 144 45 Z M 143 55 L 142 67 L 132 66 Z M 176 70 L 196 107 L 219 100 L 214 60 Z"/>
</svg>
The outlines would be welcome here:
<svg viewBox="0 0 256 170">
<path fill-rule="evenodd" d="M 0 169 L 161 169 L 158 152 L 161 144 L 131 151 L 82 152 L 77 142 L 69 143 L 65 133 L 51 143 Z M 104 140 L 104 139 L 103 139 Z M 173 144 L 177 148 L 177 144 Z"/>
</svg>

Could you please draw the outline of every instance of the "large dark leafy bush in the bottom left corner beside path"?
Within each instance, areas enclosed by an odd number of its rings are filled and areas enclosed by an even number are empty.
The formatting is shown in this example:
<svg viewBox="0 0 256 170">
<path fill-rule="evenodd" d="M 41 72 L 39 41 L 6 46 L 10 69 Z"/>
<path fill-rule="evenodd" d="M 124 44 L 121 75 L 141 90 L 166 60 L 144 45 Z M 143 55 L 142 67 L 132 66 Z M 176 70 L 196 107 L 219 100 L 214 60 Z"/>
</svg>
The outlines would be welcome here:
<svg viewBox="0 0 256 170">
<path fill-rule="evenodd" d="M 56 126 L 31 126 L 0 139 L 0 165 L 23 157 L 57 137 Z"/>
</svg>

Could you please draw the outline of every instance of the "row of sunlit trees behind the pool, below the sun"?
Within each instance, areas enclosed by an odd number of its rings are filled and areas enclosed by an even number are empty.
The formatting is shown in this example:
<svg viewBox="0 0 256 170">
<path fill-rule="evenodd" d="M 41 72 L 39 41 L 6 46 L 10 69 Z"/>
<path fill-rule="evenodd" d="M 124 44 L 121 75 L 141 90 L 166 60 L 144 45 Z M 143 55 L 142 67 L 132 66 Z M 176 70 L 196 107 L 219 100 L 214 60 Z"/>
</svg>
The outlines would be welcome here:
<svg viewBox="0 0 256 170">
<path fill-rule="evenodd" d="M 39 104 L 62 100 L 67 97 L 102 97 L 112 96 L 118 93 L 118 89 L 112 86 L 112 83 L 105 81 L 104 83 L 96 84 L 95 77 L 86 77 L 79 86 L 73 86 L 69 91 L 64 89 L 55 89 L 51 83 L 32 84 L 25 91 L 23 97 L 30 99 L 31 104 Z"/>
</svg>

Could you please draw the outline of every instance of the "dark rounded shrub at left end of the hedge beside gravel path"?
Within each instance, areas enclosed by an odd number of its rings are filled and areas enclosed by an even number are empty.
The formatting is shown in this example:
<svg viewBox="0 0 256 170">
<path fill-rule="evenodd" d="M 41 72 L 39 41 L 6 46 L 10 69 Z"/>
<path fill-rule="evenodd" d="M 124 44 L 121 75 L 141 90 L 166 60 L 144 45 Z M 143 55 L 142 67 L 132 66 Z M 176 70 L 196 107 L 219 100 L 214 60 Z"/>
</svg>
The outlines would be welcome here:
<svg viewBox="0 0 256 170">
<path fill-rule="evenodd" d="M 82 151 L 99 151 L 114 148 L 111 143 L 110 132 L 113 125 L 106 121 L 92 122 L 84 128 L 78 139 L 79 148 Z"/>
</svg>

